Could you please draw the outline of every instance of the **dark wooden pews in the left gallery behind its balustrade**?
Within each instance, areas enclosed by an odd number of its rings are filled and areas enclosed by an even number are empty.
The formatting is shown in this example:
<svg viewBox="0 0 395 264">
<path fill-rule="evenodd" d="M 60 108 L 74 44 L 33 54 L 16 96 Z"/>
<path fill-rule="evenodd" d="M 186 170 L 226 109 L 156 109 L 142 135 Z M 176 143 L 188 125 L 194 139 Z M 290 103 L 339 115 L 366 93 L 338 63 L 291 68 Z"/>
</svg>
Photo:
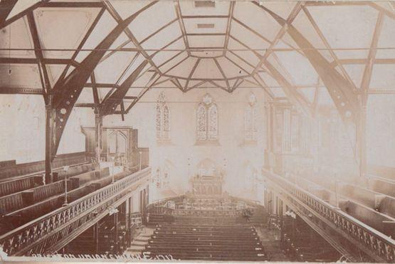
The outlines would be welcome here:
<svg viewBox="0 0 395 264">
<path fill-rule="evenodd" d="M 64 172 L 64 171 L 63 171 Z M 30 175 L 0 182 L 0 235 L 60 208 L 65 203 L 65 176 L 59 171 L 53 182 L 43 184 L 43 176 Z M 115 174 L 115 181 L 127 176 Z M 92 164 L 76 164 L 67 172 L 67 201 L 80 199 L 112 182 L 108 167 L 94 169 Z"/>
</svg>

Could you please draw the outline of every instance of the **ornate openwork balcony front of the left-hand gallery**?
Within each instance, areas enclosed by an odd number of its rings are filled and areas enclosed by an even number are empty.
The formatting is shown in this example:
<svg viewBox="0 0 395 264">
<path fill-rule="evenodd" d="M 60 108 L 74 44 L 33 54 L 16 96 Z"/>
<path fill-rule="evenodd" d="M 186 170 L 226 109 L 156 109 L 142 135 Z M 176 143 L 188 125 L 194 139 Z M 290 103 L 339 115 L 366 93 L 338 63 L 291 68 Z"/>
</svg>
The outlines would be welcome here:
<svg viewBox="0 0 395 264">
<path fill-rule="evenodd" d="M 137 171 L 6 233 L 0 236 L 0 248 L 8 255 L 56 252 L 132 196 L 150 173 L 150 167 Z"/>
</svg>

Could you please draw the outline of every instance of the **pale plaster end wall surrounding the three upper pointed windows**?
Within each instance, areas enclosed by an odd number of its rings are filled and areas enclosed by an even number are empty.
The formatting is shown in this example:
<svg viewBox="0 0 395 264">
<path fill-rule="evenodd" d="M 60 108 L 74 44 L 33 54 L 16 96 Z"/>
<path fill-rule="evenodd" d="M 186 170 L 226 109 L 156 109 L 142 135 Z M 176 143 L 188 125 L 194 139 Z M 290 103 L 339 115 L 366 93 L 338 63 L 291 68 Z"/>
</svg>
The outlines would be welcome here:
<svg viewBox="0 0 395 264">
<path fill-rule="evenodd" d="M 156 136 L 156 106 L 160 93 L 166 98 L 170 112 L 169 142 L 159 142 Z M 196 110 L 207 93 L 218 107 L 218 144 L 199 144 L 196 141 Z M 256 97 L 258 133 L 255 143 L 244 139 L 244 117 L 251 93 Z M 247 189 L 251 186 L 246 184 L 245 177 L 251 167 L 258 171 L 258 175 L 263 167 L 266 140 L 264 99 L 263 90 L 258 89 L 236 89 L 231 94 L 210 88 L 193 89 L 187 93 L 172 88 L 153 89 L 125 116 L 125 122 L 120 117 L 112 116 L 105 117 L 103 125 L 137 128 L 139 146 L 149 147 L 152 175 L 156 176 L 157 169 L 163 174 L 165 167 L 168 167 L 171 174 L 169 186 L 177 194 L 191 189 L 189 179 L 197 173 L 199 162 L 210 159 L 218 170 L 226 171 L 226 191 L 253 199 L 255 197 L 251 196 L 251 189 Z M 156 188 L 154 182 L 150 194 Z"/>
</svg>

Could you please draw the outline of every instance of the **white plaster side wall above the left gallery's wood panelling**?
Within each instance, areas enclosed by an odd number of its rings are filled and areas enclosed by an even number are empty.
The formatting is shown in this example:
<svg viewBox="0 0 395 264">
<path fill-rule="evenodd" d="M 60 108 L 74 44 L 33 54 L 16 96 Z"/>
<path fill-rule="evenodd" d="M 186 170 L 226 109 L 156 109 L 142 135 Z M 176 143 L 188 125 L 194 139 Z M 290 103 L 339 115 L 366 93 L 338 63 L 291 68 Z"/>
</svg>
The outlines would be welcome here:
<svg viewBox="0 0 395 264">
<path fill-rule="evenodd" d="M 93 110 L 75 108 L 65 127 L 58 154 L 85 151 L 80 126 L 94 125 Z M 16 163 L 45 159 L 46 115 L 41 95 L 0 96 L 0 160 Z"/>
</svg>

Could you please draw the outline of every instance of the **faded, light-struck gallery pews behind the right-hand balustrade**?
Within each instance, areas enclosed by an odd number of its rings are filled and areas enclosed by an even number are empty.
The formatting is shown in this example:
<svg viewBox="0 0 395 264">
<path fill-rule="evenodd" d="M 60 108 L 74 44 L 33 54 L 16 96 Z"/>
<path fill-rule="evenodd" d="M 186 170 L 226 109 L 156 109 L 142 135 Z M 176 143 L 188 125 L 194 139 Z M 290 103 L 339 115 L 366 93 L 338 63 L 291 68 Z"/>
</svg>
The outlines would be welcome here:
<svg viewBox="0 0 395 264">
<path fill-rule="evenodd" d="M 395 177 L 333 176 L 321 173 L 288 176 L 297 186 L 336 206 L 386 236 L 395 237 Z M 337 195 L 338 196 L 337 196 Z"/>
</svg>

